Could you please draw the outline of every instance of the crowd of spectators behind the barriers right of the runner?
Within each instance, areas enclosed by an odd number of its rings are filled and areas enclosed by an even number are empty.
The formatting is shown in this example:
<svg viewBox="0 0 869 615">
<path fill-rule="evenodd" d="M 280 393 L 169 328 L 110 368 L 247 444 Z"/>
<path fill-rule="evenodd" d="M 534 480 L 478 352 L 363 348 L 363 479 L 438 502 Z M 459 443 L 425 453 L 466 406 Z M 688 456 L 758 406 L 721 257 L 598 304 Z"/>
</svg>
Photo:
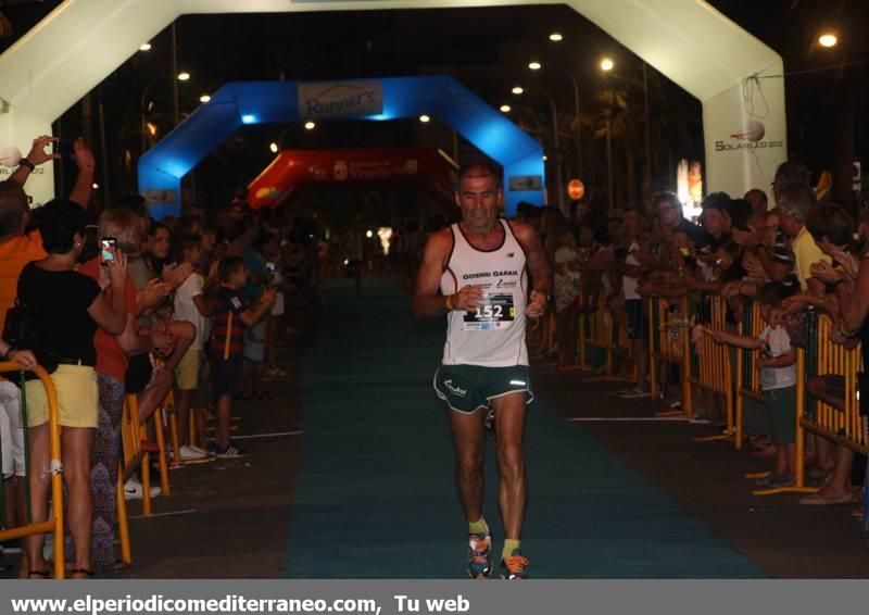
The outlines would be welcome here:
<svg viewBox="0 0 869 615">
<path fill-rule="evenodd" d="M 585 352 L 600 353 L 601 371 L 603 354 L 616 353 L 620 376 L 635 382 L 618 393 L 621 398 L 651 398 L 654 376 L 660 382 L 656 392 L 679 409 L 683 389 L 673 385 L 681 381 L 683 366 L 662 363 L 659 374 L 650 374 L 653 338 L 690 329 L 695 365 L 704 329 L 717 343 L 756 351 L 763 405 L 747 427 L 755 454 L 770 459 L 770 473 L 757 479 L 758 486 L 794 487 L 796 464 L 805 463 L 818 491 L 801 504 L 856 504 L 865 456 L 857 455 L 860 463 L 855 464 L 854 447 L 809 431 L 804 459 L 795 457 L 795 426 L 803 412 L 795 365 L 796 349 L 806 348 L 807 336 L 814 335 L 808 323 L 818 314 L 831 319 L 833 342 L 847 349 L 861 344 L 862 364 L 869 364 L 869 210 L 818 202 L 810 171 L 795 161 L 780 165 L 771 197 L 768 203 L 760 189 L 742 198 L 710 193 L 696 224 L 683 217 L 672 192 L 609 212 L 581 204 L 571 219 L 551 208 L 522 209 L 520 215 L 539 228 L 554 263 L 554 330 L 541 340 L 540 354 L 555 360 L 559 369 L 580 367 L 577 317 L 606 311 L 628 342 Z M 662 330 L 650 330 L 650 297 L 668 304 L 670 317 L 660 323 Z M 722 330 L 709 327 L 713 298 L 725 302 Z M 759 304 L 764 327 L 757 337 L 740 335 L 739 325 L 754 304 Z M 730 355 L 735 372 L 735 352 Z M 813 374 L 806 393 L 842 412 L 853 393 L 845 382 L 843 373 Z M 692 393 L 692 421 L 726 427 L 723 396 L 702 387 Z"/>
</svg>

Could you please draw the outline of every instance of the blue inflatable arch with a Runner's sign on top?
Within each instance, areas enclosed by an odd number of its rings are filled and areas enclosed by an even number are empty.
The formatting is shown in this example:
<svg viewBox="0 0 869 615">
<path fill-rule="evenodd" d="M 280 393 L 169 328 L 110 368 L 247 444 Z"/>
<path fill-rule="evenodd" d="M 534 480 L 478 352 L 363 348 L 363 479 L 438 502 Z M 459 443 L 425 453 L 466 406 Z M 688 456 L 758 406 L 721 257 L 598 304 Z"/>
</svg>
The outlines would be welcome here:
<svg viewBox="0 0 869 615">
<path fill-rule="evenodd" d="M 507 216 L 520 201 L 544 204 L 541 145 L 448 76 L 227 84 L 139 160 L 139 191 L 154 217 L 177 215 L 181 178 L 245 124 L 421 114 L 440 118 L 503 166 Z"/>
</svg>

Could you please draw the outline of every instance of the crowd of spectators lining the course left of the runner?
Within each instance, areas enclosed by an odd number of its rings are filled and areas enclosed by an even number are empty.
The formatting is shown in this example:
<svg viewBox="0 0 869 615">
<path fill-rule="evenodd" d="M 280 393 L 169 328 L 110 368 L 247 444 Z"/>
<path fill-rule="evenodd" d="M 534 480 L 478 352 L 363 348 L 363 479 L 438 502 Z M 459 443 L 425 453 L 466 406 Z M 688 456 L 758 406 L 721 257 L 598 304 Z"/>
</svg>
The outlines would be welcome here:
<svg viewBox="0 0 869 615">
<path fill-rule="evenodd" d="M 175 464 L 247 456 L 230 438 L 234 404 L 267 399 L 263 382 L 287 376 L 276 348 L 288 332 L 298 334 L 295 315 L 315 303 L 316 248 L 292 240 L 292 221 L 281 212 L 261 214 L 241 200 L 213 219 L 192 208 L 158 222 L 135 194 L 89 211 L 95 159 L 81 139 L 74 143 L 78 175 L 72 192 L 30 210 L 24 187 L 36 166 L 56 158 L 52 141 L 35 139 L 0 183 L 0 352 L 27 368 L 40 365 L 54 385 L 67 574 L 88 578 L 117 565 L 125 400 L 135 396 L 146 424 L 174 396 L 180 441 L 172 451 Z M 10 528 L 48 518 L 53 466 L 45 387 L 33 377 L 4 376 L 0 428 Z M 212 441 L 206 414 L 215 423 Z M 141 447 L 153 448 L 152 440 L 153 434 Z M 151 495 L 159 491 L 151 488 Z M 124 492 L 141 498 L 142 485 L 134 476 Z M 48 576 L 43 538 L 23 540 L 22 576 Z"/>
</svg>

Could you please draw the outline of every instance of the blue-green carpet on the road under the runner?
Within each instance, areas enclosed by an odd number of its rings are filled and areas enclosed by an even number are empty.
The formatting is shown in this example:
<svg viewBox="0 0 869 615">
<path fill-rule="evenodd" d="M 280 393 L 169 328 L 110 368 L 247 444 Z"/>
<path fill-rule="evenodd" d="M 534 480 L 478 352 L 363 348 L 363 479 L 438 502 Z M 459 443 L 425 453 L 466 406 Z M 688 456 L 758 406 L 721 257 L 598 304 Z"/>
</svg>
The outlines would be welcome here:
<svg viewBox="0 0 869 615">
<path fill-rule="evenodd" d="M 342 280 L 326 285 L 303 362 L 305 434 L 285 575 L 463 578 L 467 525 L 449 424 L 431 389 L 445 322 L 415 321 L 407 297 L 386 281 L 365 280 L 363 294 Z M 761 576 L 538 394 L 522 537 L 533 577 Z M 490 442 L 484 514 L 500 553 L 493 453 Z"/>
</svg>

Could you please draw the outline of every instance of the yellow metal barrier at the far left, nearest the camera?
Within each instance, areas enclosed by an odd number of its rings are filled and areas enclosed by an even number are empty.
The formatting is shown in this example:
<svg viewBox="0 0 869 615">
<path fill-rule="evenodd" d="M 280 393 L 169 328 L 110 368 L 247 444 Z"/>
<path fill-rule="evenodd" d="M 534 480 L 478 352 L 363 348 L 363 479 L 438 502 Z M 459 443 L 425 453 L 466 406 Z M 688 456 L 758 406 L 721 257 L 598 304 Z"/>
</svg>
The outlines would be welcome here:
<svg viewBox="0 0 869 615">
<path fill-rule="evenodd" d="M 0 373 L 22 372 L 24 366 L 20 363 L 11 361 L 0 363 Z M 5 540 L 14 540 L 16 538 L 24 538 L 25 536 L 33 536 L 35 534 L 51 534 L 54 537 L 54 578 L 62 579 L 64 577 L 64 554 L 63 554 L 63 462 L 61 456 L 61 426 L 59 422 L 58 410 L 58 393 L 54 390 L 54 384 L 51 381 L 51 376 L 37 366 L 34 373 L 42 382 L 46 388 L 46 398 L 48 400 L 48 425 L 49 425 L 49 447 L 51 454 L 51 507 L 50 518 L 40 523 L 33 523 L 30 519 L 30 460 L 27 451 L 27 403 L 24 399 L 22 387 L 22 425 L 24 427 L 24 447 L 25 447 L 25 463 L 26 468 L 26 485 L 27 485 L 27 524 L 18 527 L 0 529 L 0 542 Z M 23 384 L 22 373 L 22 384 Z M 3 486 L 0 485 L 0 493 Z M 0 494 L 0 511 L 3 510 L 2 495 Z"/>
</svg>

